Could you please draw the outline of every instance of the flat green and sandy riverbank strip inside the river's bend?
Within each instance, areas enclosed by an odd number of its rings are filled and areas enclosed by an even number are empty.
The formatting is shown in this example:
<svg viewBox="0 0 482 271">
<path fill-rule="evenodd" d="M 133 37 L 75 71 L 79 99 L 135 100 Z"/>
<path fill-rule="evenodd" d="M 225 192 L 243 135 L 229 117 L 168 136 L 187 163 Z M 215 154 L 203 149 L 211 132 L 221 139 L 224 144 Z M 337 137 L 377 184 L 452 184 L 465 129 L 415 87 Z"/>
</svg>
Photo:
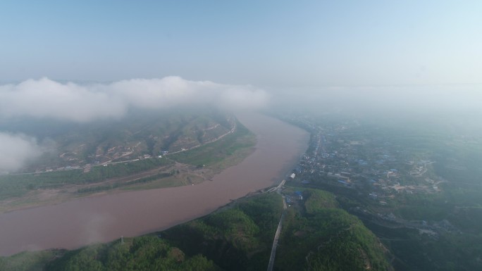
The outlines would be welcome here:
<svg viewBox="0 0 482 271">
<path fill-rule="evenodd" d="M 225 168 L 240 163 L 254 151 L 255 144 L 256 136 L 252 132 L 243 125 L 235 125 L 233 130 L 209 144 L 179 153 L 172 153 L 163 158 L 148 158 L 131 162 L 144 164 L 152 162 L 152 166 L 155 166 L 155 168 L 132 175 L 109 178 L 101 182 L 71 184 L 66 180 L 67 184 L 62 186 L 35 189 L 23 196 L 0 201 L 0 213 L 125 191 L 199 184 L 211 179 Z M 111 170 L 109 167 L 111 165 L 104 165 L 105 169 Z M 102 166 L 100 168 L 104 170 Z M 35 181 L 35 179 L 32 181 Z M 11 182 L 16 181 L 12 180 Z"/>
</svg>

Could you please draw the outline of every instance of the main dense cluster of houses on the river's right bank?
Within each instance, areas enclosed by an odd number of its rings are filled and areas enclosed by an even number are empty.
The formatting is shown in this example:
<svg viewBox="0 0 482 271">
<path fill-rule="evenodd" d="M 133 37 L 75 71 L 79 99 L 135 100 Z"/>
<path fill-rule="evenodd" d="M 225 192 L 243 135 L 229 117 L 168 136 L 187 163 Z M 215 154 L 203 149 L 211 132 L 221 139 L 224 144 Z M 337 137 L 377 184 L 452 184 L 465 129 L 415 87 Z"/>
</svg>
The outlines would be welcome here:
<svg viewBox="0 0 482 271">
<path fill-rule="evenodd" d="M 292 122 L 312 134 L 309 149 L 290 179 L 302 184 L 328 182 L 358 189 L 386 205 L 397 194 L 436 193 L 441 179 L 428 179 L 431 160 L 416 160 L 411 153 L 377 131 L 357 122 L 318 124 L 297 118 Z"/>
</svg>

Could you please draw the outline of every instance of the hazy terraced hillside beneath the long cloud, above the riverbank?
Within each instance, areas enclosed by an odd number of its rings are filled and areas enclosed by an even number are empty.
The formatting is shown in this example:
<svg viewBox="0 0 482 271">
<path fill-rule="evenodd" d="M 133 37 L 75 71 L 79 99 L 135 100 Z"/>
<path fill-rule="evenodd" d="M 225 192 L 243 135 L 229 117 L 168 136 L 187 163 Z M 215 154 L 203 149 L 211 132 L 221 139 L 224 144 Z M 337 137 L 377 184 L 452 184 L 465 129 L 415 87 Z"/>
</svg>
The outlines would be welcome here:
<svg viewBox="0 0 482 271">
<path fill-rule="evenodd" d="M 0 130 L 35 137 L 46 151 L 23 172 L 81 168 L 159 156 L 214 141 L 230 132 L 233 115 L 211 109 L 137 111 L 119 120 L 72 123 L 15 119 L 0 122 Z"/>
</svg>

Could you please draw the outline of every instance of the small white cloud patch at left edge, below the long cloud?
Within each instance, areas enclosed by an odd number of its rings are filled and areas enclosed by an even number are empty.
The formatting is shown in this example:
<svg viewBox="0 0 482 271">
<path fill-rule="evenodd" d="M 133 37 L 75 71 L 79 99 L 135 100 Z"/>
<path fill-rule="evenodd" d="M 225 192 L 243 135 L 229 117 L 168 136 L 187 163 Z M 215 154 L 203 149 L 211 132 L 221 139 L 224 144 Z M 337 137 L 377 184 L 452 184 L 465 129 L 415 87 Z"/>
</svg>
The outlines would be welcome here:
<svg viewBox="0 0 482 271">
<path fill-rule="evenodd" d="M 18 170 L 40 154 L 42 149 L 32 137 L 0 132 L 0 173 Z"/>
</svg>

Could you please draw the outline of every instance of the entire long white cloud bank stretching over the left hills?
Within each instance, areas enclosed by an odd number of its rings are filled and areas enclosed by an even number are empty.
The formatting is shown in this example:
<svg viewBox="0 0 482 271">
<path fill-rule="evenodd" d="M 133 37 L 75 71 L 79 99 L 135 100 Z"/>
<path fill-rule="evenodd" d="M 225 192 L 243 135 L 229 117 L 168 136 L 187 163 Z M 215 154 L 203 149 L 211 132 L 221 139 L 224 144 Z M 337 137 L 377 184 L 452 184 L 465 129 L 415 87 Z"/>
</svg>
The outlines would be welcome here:
<svg viewBox="0 0 482 271">
<path fill-rule="evenodd" d="M 251 86 L 189 81 L 181 77 L 133 79 L 109 84 L 63 84 L 42 78 L 0 86 L 0 116 L 29 116 L 75 122 L 121 118 L 129 108 L 212 104 L 259 108 L 268 94 Z"/>
</svg>

